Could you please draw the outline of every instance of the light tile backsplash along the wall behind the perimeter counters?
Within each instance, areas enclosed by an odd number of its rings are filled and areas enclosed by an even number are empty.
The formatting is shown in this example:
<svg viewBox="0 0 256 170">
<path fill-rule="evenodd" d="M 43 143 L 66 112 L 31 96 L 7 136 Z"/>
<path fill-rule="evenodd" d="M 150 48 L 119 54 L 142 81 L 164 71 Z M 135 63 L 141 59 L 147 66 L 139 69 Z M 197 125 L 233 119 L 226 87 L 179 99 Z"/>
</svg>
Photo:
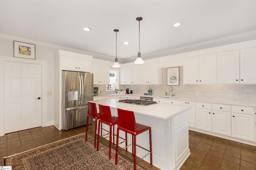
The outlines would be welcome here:
<svg viewBox="0 0 256 170">
<path fill-rule="evenodd" d="M 172 86 L 176 97 L 214 100 L 214 101 L 241 101 L 256 102 L 256 84 L 183 84 L 183 66 L 180 67 L 179 86 Z M 167 86 L 167 68 L 162 68 L 162 84 L 160 85 L 120 85 L 120 89 L 129 88 L 134 94 L 148 93 L 148 88 L 153 90 L 153 95 L 164 96 L 165 91 L 170 94 L 170 86 Z M 96 86 L 96 85 L 95 85 Z M 102 94 L 113 94 L 115 92 L 106 92 L 106 85 L 98 85 Z M 162 93 L 163 91 L 163 93 Z M 198 92 L 198 95 L 196 95 Z M 210 96 L 207 93 L 210 92 Z"/>
</svg>

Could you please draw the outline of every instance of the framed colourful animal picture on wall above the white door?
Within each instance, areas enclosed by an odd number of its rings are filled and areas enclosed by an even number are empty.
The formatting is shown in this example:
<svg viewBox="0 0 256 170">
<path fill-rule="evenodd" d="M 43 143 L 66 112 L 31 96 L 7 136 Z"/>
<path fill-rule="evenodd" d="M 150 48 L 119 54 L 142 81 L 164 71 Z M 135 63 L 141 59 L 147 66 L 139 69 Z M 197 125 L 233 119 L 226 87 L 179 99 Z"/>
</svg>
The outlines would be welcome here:
<svg viewBox="0 0 256 170">
<path fill-rule="evenodd" d="M 14 41 L 14 57 L 36 59 L 35 45 Z"/>
</svg>

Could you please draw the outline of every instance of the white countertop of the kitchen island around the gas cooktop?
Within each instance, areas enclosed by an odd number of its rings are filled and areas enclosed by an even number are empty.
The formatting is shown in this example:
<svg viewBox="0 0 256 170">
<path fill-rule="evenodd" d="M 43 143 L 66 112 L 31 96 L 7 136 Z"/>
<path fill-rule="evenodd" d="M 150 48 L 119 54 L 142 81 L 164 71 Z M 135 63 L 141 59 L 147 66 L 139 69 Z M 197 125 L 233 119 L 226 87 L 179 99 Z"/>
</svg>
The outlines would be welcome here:
<svg viewBox="0 0 256 170">
<path fill-rule="evenodd" d="M 152 104 L 148 106 L 141 106 L 136 104 L 127 104 L 118 102 L 119 99 L 104 99 L 104 100 L 94 100 L 89 101 L 96 104 L 101 104 L 105 106 L 110 106 L 112 108 L 120 108 L 124 110 L 134 111 L 134 113 L 140 115 L 146 115 L 149 117 L 155 117 L 158 119 L 169 119 L 170 117 L 190 109 L 189 106 L 179 106 L 179 105 L 169 105 L 169 104 Z"/>
</svg>

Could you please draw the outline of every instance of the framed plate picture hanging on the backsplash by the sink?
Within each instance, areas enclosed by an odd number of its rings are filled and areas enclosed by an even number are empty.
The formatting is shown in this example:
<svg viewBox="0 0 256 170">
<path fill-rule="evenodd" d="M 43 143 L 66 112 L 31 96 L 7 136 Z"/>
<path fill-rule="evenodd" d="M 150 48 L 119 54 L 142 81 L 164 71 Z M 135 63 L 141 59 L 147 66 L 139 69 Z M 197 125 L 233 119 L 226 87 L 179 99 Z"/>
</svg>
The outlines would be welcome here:
<svg viewBox="0 0 256 170">
<path fill-rule="evenodd" d="M 167 85 L 178 86 L 180 82 L 180 67 L 167 68 Z"/>
</svg>

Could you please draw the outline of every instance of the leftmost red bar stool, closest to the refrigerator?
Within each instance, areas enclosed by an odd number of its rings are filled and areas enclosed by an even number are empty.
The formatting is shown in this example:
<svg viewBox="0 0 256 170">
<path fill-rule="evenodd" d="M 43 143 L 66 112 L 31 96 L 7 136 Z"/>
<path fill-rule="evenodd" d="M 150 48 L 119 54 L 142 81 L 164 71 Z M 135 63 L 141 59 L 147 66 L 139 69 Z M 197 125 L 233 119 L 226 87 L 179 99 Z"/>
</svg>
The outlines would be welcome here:
<svg viewBox="0 0 256 170">
<path fill-rule="evenodd" d="M 94 133 L 94 148 L 96 148 L 96 132 L 97 132 L 97 121 L 100 118 L 100 114 L 97 113 L 97 107 L 95 103 L 91 103 L 91 102 L 87 102 L 88 103 L 88 112 L 87 112 L 87 121 L 86 121 L 86 135 L 85 135 L 85 141 L 87 142 L 87 134 L 90 135 L 90 132 L 95 131 Z M 90 131 L 88 133 L 88 121 L 89 121 L 89 117 L 92 117 L 93 119 L 95 119 L 95 129 L 93 131 Z M 91 135 L 92 136 L 92 135 Z M 92 136 L 93 137 L 93 136 Z"/>
</svg>

